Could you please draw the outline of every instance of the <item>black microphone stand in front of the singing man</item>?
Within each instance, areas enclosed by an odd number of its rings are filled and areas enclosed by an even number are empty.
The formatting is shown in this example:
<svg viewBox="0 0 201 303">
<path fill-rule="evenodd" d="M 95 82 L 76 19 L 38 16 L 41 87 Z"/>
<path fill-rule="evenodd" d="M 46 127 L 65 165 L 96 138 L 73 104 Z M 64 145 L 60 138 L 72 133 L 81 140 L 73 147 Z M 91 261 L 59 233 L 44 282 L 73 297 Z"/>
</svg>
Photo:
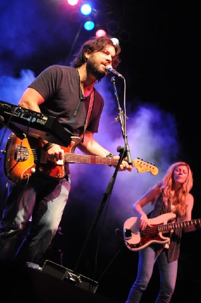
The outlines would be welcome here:
<svg viewBox="0 0 201 303">
<path fill-rule="evenodd" d="M 115 82 L 114 77 L 112 77 L 112 79 L 113 79 L 112 81 L 113 81 L 113 83 L 114 83 L 114 82 Z M 114 84 L 114 86 L 115 86 L 115 84 Z M 120 108 L 120 106 L 119 106 L 119 99 L 118 99 L 118 95 L 117 95 L 116 86 L 115 86 L 115 95 L 116 95 L 117 103 L 118 103 L 118 110 L 119 110 L 119 117 L 120 117 L 119 121 L 120 121 L 120 123 L 121 123 L 121 127 L 122 127 L 122 132 L 123 132 L 124 138 L 126 138 L 125 130 L 124 130 L 124 126 L 123 126 L 123 112 L 122 112 L 122 110 L 121 110 L 121 108 Z M 127 158 L 128 158 L 128 157 L 130 158 L 128 144 L 126 145 L 126 147 L 127 147 L 127 149 L 126 149 Z M 120 153 L 120 154 L 119 154 L 120 158 L 119 158 L 119 161 L 118 161 L 118 165 L 117 165 L 117 167 L 115 168 L 115 172 L 114 172 L 114 174 L 113 174 L 113 176 L 112 176 L 112 178 L 111 178 L 111 180 L 110 180 L 110 182 L 109 182 L 109 184 L 108 184 L 108 187 L 107 187 L 107 189 L 106 189 L 106 191 L 105 191 L 105 193 L 104 193 L 104 197 L 103 197 L 103 199 L 102 199 L 102 202 L 101 202 L 101 204 L 100 204 L 100 207 L 99 207 L 99 209 L 98 209 L 98 211 L 97 211 L 97 214 L 96 214 L 96 216 L 95 216 L 95 218 L 94 218 L 94 220 L 93 220 L 93 223 L 92 223 L 92 225 L 91 225 L 91 227 L 90 227 L 90 229 L 89 229 L 88 235 L 87 235 L 87 237 L 86 237 L 86 239 L 85 239 L 85 242 L 84 242 L 84 244 L 83 244 L 83 246 L 82 246 L 82 249 L 81 249 L 81 251 L 80 251 L 80 254 L 79 254 L 79 257 L 78 257 L 78 259 L 77 259 L 77 262 L 76 262 L 76 264 L 75 264 L 75 266 L 74 266 L 73 271 L 74 271 L 75 274 L 77 273 L 77 269 L 78 269 L 78 266 L 79 266 L 79 263 L 80 263 L 80 259 L 81 259 L 82 255 L 83 255 L 83 251 L 84 251 L 84 249 L 85 249 L 85 247 L 86 247 L 86 244 L 88 243 L 89 239 L 90 239 L 91 236 L 92 236 L 92 233 L 93 233 L 93 231 L 94 231 L 94 229 L 95 229 L 95 227 L 96 227 L 96 224 L 97 224 L 97 222 L 98 222 L 98 219 L 99 219 L 100 215 L 102 214 L 102 211 L 103 211 L 103 209 L 104 209 L 104 206 L 105 206 L 105 204 L 106 204 L 106 201 L 107 201 L 108 197 L 112 194 L 112 190 L 113 190 L 113 187 L 114 187 L 114 184 L 115 184 L 115 180 L 116 180 L 117 173 L 118 173 L 120 164 L 121 164 L 121 162 L 122 162 L 122 159 L 125 158 L 125 156 L 124 156 L 124 154 L 125 154 L 125 153 L 124 153 L 124 148 L 123 148 L 122 146 L 118 146 L 118 147 L 117 147 L 117 151 Z M 129 164 L 132 164 L 132 161 L 131 161 L 131 160 L 129 160 L 129 161 L 130 161 Z"/>
</svg>

